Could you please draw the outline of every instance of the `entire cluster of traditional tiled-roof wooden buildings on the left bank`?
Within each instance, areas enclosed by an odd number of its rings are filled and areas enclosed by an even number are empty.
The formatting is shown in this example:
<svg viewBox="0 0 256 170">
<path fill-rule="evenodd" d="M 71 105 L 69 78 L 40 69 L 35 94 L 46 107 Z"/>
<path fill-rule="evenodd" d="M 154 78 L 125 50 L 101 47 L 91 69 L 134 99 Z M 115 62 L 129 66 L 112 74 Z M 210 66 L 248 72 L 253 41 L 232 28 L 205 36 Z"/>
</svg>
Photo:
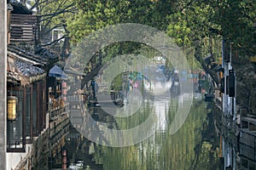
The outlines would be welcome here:
<svg viewBox="0 0 256 170">
<path fill-rule="evenodd" d="M 34 162 L 42 159 L 36 153 L 43 153 L 42 148 L 49 152 L 52 139 L 55 142 L 61 139 L 65 130 L 59 126 L 62 119 L 52 120 L 64 112 L 61 98 L 58 99 L 61 83 L 49 77 L 59 55 L 48 48 L 37 48 L 35 52 L 38 18 L 20 3 L 8 1 L 7 25 L 7 169 L 31 169 Z M 59 94 L 50 96 L 51 89 Z M 61 117 L 67 124 L 67 116 Z M 44 139 L 44 143 L 38 139 Z"/>
</svg>

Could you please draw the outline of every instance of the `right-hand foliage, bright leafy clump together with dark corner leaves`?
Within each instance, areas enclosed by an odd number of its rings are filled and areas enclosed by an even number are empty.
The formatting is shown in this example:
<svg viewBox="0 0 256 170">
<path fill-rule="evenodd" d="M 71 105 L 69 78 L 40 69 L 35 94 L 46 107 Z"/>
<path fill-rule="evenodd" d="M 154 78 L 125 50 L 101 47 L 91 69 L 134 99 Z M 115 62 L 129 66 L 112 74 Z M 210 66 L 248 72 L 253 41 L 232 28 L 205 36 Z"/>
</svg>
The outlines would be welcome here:
<svg viewBox="0 0 256 170">
<path fill-rule="evenodd" d="M 234 42 L 233 49 L 237 49 L 240 54 L 256 54 L 256 3 L 253 2 L 182 1 L 177 3 L 177 12 L 168 16 L 170 25 L 167 33 L 180 46 L 195 46 L 206 37 L 219 39 L 222 36 Z"/>
</svg>

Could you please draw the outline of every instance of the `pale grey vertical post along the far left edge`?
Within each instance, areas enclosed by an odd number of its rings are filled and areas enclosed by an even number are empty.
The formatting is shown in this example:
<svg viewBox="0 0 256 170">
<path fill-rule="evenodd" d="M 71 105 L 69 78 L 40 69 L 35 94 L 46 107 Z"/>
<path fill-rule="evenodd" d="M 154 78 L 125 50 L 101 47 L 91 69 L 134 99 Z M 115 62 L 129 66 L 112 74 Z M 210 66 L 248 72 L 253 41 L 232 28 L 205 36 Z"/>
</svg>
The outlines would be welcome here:
<svg viewBox="0 0 256 170">
<path fill-rule="evenodd" d="M 0 167 L 6 169 L 7 2 L 0 1 Z"/>
</svg>

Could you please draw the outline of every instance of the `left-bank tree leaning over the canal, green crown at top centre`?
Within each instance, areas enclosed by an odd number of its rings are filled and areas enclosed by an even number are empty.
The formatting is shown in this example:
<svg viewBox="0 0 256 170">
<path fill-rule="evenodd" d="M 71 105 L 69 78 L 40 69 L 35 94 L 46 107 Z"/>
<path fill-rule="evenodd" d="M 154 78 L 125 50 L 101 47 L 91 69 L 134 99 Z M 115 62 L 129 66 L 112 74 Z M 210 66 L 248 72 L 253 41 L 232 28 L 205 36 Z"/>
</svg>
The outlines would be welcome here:
<svg viewBox="0 0 256 170">
<path fill-rule="evenodd" d="M 162 5 L 161 1 L 77 0 L 76 4 L 77 8 L 79 8 L 79 13 L 75 15 L 74 20 L 67 22 L 67 29 L 70 32 L 69 35 L 73 44 L 80 42 L 83 37 L 93 31 L 119 23 L 140 23 L 166 30 L 166 14 L 171 11 L 167 9 L 171 6 L 171 3 L 166 3 L 166 8 L 164 9 L 165 6 Z M 166 14 L 162 14 L 163 11 Z M 143 44 L 137 42 L 117 42 L 100 50 L 98 55 L 92 57 L 92 59 L 107 62 L 117 54 L 131 54 L 142 47 L 144 47 Z M 74 63 L 76 62 L 74 61 Z M 91 60 L 90 62 L 93 63 L 94 61 Z M 94 73 L 87 73 L 83 84 L 97 74 L 99 67 L 101 66 L 98 65 L 93 69 L 92 72 Z"/>
</svg>

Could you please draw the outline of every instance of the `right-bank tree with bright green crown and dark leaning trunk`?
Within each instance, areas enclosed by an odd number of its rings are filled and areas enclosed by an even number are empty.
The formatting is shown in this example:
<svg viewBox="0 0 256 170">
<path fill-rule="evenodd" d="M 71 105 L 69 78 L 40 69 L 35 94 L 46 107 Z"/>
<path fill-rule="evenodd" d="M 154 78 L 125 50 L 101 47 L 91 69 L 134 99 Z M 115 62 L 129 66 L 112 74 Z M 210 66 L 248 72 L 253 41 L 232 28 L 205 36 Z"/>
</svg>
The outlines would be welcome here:
<svg viewBox="0 0 256 170">
<path fill-rule="evenodd" d="M 215 47 L 212 44 L 214 39 L 220 43 L 220 26 L 213 20 L 214 13 L 215 9 L 204 1 L 179 2 L 177 3 L 177 11 L 169 15 L 170 24 L 167 27 L 167 34 L 174 37 L 177 44 L 184 50 L 188 51 L 189 49 L 187 58 L 196 59 L 218 84 L 218 74 L 207 67 L 204 59 L 210 55 L 214 61 L 221 56 L 220 50 L 216 49 L 219 46 Z"/>
</svg>

